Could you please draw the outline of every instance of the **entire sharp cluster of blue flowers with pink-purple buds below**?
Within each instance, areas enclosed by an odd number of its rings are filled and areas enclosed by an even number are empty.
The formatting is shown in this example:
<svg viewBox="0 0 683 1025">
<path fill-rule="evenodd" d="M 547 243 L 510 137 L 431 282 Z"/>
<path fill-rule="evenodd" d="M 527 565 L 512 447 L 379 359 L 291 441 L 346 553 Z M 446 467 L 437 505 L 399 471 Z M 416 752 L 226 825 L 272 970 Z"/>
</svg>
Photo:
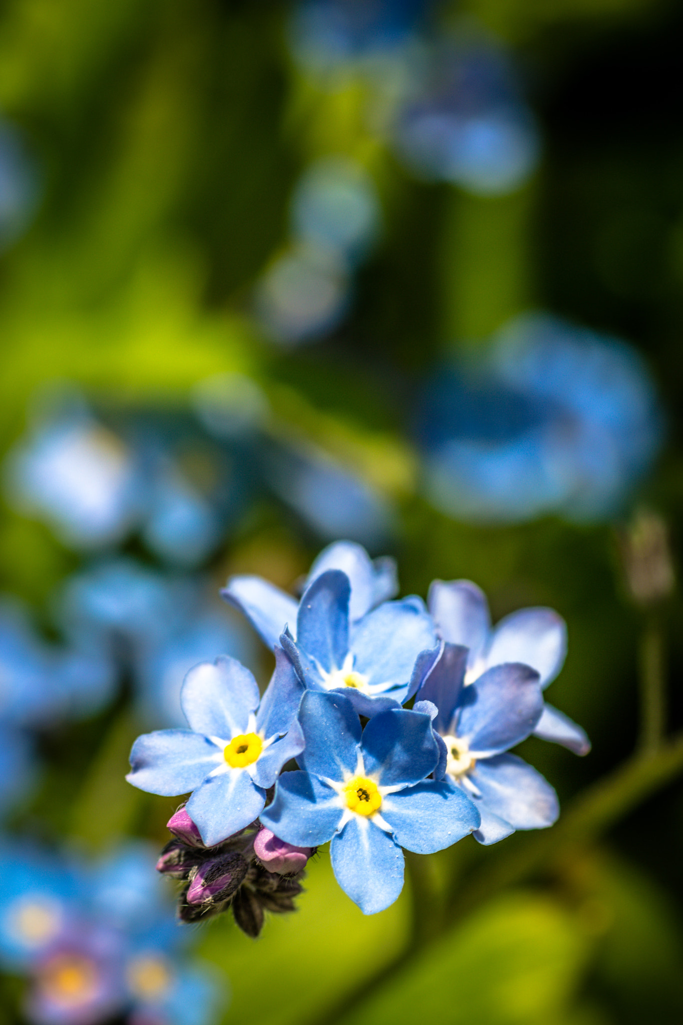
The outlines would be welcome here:
<svg viewBox="0 0 683 1025">
<path fill-rule="evenodd" d="M 400 893 L 403 850 L 494 844 L 557 818 L 553 788 L 509 751 L 532 733 L 589 750 L 543 698 L 563 621 L 525 609 L 492 628 L 470 581 L 435 581 L 428 607 L 396 589 L 393 563 L 350 542 L 322 552 L 299 603 L 258 577 L 228 581 L 224 598 L 274 651 L 263 697 L 237 660 L 202 663 L 181 691 L 190 729 L 131 752 L 135 786 L 189 793 L 158 864 L 184 883 L 182 919 L 231 907 L 256 935 L 264 910 L 292 909 L 328 840 L 339 885 L 372 914 Z"/>
</svg>

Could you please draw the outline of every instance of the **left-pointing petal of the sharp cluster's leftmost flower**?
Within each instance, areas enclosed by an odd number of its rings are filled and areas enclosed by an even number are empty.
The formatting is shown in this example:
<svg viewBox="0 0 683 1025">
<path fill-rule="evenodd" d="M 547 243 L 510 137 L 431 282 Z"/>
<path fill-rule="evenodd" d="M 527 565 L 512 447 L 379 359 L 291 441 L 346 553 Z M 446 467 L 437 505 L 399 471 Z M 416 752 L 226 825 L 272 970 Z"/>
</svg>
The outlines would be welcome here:
<svg viewBox="0 0 683 1025">
<path fill-rule="evenodd" d="M 158 730 L 138 737 L 130 752 L 126 779 L 148 793 L 175 797 L 206 779 L 223 752 L 206 737 L 188 730 Z"/>
</svg>

